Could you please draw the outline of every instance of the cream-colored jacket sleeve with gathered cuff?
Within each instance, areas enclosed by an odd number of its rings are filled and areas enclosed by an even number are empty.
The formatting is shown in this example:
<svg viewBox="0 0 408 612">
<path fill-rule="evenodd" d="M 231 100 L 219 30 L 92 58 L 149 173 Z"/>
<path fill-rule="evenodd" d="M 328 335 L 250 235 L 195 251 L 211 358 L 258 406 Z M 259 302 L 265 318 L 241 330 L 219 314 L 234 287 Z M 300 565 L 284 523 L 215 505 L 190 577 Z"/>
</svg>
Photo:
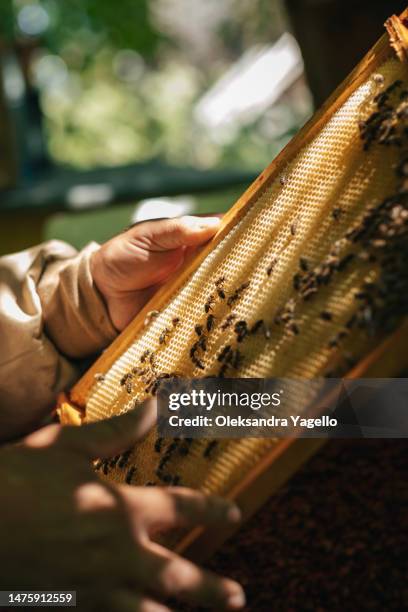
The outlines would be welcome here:
<svg viewBox="0 0 408 612">
<path fill-rule="evenodd" d="M 53 240 L 0 257 L 0 440 L 41 423 L 80 360 L 115 337 L 90 274 L 98 248 Z"/>
</svg>

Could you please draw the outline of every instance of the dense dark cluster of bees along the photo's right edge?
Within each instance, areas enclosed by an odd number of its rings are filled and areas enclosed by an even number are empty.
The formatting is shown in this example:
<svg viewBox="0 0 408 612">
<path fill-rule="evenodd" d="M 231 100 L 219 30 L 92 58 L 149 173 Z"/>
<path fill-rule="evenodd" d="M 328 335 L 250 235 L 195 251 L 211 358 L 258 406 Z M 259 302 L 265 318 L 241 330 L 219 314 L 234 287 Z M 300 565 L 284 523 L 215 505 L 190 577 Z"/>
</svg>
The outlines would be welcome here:
<svg viewBox="0 0 408 612">
<path fill-rule="evenodd" d="M 408 313 L 408 90 L 394 81 L 375 96 L 374 105 L 359 124 L 364 149 L 374 144 L 395 147 L 400 161 L 394 168 L 395 192 L 367 209 L 349 235 L 358 243 L 358 256 L 379 266 L 378 280 L 356 292 L 358 308 L 353 324 L 349 322 L 370 335 L 391 331 Z"/>
</svg>

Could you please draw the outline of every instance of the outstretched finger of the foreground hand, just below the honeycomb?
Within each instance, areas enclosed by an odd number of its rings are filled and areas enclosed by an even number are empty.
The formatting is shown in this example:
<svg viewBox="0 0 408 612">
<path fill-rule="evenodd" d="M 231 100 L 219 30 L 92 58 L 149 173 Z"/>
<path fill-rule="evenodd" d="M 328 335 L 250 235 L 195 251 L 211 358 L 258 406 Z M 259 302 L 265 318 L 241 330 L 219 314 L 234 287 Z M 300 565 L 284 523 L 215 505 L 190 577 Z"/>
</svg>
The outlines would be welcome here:
<svg viewBox="0 0 408 612">
<path fill-rule="evenodd" d="M 238 506 L 214 495 L 183 487 L 141 488 L 114 485 L 121 499 L 134 513 L 137 525 L 144 523 L 148 531 L 171 527 L 193 527 L 238 523 L 241 512 Z"/>
</svg>

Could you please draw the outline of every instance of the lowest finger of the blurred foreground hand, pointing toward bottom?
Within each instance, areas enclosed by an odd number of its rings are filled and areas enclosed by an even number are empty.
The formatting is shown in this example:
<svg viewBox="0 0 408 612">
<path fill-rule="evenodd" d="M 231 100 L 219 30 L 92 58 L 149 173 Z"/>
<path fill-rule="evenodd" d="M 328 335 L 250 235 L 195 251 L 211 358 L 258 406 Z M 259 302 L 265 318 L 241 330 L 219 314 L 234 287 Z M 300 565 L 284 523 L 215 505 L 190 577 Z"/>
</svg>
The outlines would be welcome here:
<svg viewBox="0 0 408 612">
<path fill-rule="evenodd" d="M 174 597 L 211 609 L 244 607 L 244 591 L 237 582 L 203 570 L 153 542 L 149 542 L 145 552 L 142 580 L 157 596 Z"/>
</svg>

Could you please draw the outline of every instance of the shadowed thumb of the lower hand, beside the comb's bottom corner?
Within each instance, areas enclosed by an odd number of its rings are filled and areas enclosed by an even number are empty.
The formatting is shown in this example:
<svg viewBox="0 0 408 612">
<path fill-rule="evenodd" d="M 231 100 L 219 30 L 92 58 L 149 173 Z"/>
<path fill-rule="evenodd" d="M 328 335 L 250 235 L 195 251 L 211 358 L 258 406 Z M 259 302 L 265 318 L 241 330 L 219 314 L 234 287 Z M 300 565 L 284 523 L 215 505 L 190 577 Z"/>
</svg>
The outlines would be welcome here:
<svg viewBox="0 0 408 612">
<path fill-rule="evenodd" d="M 82 427 L 63 427 L 59 441 L 90 459 L 112 457 L 143 438 L 156 420 L 156 400 L 152 398 L 122 416 Z"/>
</svg>

